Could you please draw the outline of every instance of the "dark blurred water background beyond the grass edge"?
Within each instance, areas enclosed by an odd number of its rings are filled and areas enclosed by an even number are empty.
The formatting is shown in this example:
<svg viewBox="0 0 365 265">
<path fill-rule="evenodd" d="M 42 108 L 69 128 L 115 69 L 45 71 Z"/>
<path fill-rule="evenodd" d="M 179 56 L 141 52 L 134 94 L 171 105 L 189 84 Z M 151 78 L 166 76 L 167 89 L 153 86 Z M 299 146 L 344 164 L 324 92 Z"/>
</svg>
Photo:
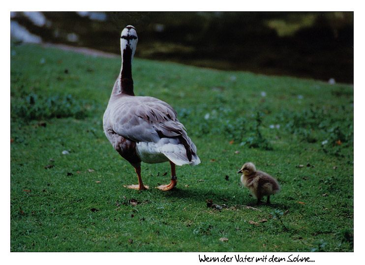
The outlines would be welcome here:
<svg viewBox="0 0 365 265">
<path fill-rule="evenodd" d="M 353 21 L 353 12 L 11 12 L 11 37 L 120 54 L 130 24 L 139 58 L 353 83 Z"/>
</svg>

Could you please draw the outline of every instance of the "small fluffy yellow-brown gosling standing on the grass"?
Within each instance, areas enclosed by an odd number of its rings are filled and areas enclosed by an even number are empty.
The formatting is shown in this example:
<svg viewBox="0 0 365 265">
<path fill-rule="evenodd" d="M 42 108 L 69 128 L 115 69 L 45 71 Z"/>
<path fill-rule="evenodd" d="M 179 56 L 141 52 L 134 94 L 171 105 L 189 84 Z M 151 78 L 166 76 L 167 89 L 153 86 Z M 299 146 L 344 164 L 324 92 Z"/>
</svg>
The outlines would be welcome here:
<svg viewBox="0 0 365 265">
<path fill-rule="evenodd" d="M 265 172 L 256 170 L 255 165 L 251 162 L 245 163 L 237 173 L 243 174 L 241 182 L 257 198 L 258 205 L 264 196 L 268 196 L 266 204 L 270 204 L 270 195 L 280 191 L 280 186 L 276 179 Z"/>
</svg>

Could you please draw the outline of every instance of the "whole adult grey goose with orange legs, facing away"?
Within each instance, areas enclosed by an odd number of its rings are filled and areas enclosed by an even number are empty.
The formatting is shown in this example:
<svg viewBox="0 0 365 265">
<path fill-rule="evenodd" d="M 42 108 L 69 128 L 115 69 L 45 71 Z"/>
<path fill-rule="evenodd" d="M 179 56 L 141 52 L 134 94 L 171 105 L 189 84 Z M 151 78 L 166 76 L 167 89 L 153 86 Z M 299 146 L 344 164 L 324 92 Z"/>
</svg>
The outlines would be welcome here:
<svg viewBox="0 0 365 265">
<path fill-rule="evenodd" d="M 196 146 L 187 136 L 176 111 L 166 102 L 149 96 L 134 96 L 132 60 L 138 42 L 133 26 L 121 34 L 122 68 L 103 117 L 104 133 L 114 149 L 135 169 L 137 185 L 126 187 L 147 189 L 141 177 L 141 162 L 170 162 L 171 182 L 160 190 L 171 190 L 177 184 L 175 165 L 197 165 Z"/>
</svg>

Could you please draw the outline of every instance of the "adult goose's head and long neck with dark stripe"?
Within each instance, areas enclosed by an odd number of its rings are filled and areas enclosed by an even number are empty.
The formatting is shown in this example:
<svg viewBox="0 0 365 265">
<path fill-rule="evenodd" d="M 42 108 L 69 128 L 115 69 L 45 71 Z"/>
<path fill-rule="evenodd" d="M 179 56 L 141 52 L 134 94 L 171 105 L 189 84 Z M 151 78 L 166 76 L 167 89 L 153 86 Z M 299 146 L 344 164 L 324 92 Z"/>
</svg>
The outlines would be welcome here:
<svg viewBox="0 0 365 265">
<path fill-rule="evenodd" d="M 138 42 L 137 32 L 133 26 L 127 26 L 121 34 L 122 66 L 120 74 L 121 93 L 134 96 L 132 79 L 132 61 Z"/>
</svg>

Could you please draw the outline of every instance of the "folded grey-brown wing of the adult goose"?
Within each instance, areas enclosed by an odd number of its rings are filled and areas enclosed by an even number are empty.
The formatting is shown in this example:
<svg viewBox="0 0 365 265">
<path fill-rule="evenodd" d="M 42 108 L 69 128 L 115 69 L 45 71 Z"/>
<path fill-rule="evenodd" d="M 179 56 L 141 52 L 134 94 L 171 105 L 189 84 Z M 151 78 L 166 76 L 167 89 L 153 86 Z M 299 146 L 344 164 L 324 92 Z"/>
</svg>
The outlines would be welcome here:
<svg viewBox="0 0 365 265">
<path fill-rule="evenodd" d="M 196 146 L 177 119 L 175 110 L 166 102 L 153 97 L 133 97 L 121 101 L 111 116 L 113 130 L 124 138 L 153 143 L 161 138 L 173 138 L 185 147 L 189 163 L 192 160 L 198 162 Z"/>
</svg>

